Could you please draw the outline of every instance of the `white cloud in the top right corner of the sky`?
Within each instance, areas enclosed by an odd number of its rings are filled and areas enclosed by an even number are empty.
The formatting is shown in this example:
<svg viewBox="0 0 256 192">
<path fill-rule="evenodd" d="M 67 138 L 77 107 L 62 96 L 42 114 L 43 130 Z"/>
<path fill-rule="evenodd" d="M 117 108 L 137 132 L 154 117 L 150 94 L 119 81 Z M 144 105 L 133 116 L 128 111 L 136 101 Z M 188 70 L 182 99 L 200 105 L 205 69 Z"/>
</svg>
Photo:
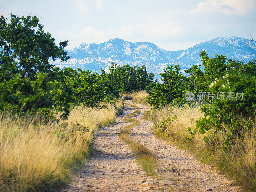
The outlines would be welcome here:
<svg viewBox="0 0 256 192">
<path fill-rule="evenodd" d="M 246 15 L 255 8 L 255 0 L 206 0 L 197 4 L 190 12 L 205 13 L 219 11 L 224 14 Z"/>
</svg>

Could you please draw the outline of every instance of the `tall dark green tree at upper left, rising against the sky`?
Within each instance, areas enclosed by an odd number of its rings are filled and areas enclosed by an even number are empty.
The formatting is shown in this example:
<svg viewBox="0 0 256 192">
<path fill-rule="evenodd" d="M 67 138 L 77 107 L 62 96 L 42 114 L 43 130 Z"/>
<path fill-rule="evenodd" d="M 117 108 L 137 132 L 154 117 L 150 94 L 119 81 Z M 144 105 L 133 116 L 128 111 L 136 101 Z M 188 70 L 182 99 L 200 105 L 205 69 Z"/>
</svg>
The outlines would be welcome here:
<svg viewBox="0 0 256 192">
<path fill-rule="evenodd" d="M 16 73 L 33 80 L 36 73 L 53 69 L 49 59 L 70 57 L 64 51 L 68 41 L 55 44 L 50 33 L 45 33 L 36 16 L 18 17 L 11 14 L 10 22 L 0 16 L 0 82 L 10 80 Z"/>
</svg>

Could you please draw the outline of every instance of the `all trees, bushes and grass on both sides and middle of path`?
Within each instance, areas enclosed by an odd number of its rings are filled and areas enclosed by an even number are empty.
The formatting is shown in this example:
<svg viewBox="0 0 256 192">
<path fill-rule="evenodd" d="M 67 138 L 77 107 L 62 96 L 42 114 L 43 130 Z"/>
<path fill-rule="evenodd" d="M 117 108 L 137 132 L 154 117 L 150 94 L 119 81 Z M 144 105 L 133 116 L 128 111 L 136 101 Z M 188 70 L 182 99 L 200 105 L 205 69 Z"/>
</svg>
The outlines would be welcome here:
<svg viewBox="0 0 256 192">
<path fill-rule="evenodd" d="M 49 60 L 70 58 L 68 40 L 56 45 L 36 16 L 10 18 L 0 16 L 0 191 L 60 188 L 90 154 L 95 131 L 122 113 L 122 96 L 152 106 L 144 116 L 158 137 L 256 190 L 255 60 L 209 58 L 202 51 L 202 66 L 185 76 L 179 65 L 168 65 L 162 83 L 145 66 L 112 63 L 101 74 L 60 69 Z M 139 124 L 130 117 L 120 139 L 154 174 L 153 155 L 129 136 Z"/>
</svg>

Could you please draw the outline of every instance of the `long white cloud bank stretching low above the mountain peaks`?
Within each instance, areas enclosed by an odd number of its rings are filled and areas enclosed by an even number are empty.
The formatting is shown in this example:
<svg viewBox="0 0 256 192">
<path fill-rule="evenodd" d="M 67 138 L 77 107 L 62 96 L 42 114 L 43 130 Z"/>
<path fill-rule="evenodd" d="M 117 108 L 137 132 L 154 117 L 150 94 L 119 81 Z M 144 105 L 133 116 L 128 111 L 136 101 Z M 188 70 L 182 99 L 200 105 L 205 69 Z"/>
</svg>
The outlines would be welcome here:
<svg viewBox="0 0 256 192">
<path fill-rule="evenodd" d="M 184 33 L 184 28 L 178 24 L 164 23 L 137 23 L 135 25 L 124 25 L 116 30 L 99 30 L 92 26 L 84 27 L 78 32 L 67 30 L 58 31 L 58 37 L 68 39 L 68 48 L 74 48 L 85 43 L 101 43 L 113 38 L 121 38 L 126 41 L 139 42 L 141 40 L 149 42 L 160 42 L 163 39 L 170 39 Z"/>
</svg>

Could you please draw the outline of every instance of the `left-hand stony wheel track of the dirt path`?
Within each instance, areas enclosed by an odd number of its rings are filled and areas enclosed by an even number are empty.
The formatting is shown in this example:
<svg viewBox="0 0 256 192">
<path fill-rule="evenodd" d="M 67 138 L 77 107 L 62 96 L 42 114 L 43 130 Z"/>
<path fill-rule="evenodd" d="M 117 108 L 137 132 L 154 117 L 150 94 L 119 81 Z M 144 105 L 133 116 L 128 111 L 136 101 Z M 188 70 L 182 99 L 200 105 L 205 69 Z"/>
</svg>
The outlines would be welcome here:
<svg viewBox="0 0 256 192">
<path fill-rule="evenodd" d="M 145 177 L 145 172 L 136 163 L 129 146 L 119 140 L 120 129 L 130 124 L 124 116 L 133 113 L 133 107 L 125 106 L 116 123 L 103 127 L 95 136 L 95 152 L 86 162 L 84 170 L 74 182 L 62 189 L 63 192 L 82 191 L 138 191 L 137 185 Z"/>
</svg>

